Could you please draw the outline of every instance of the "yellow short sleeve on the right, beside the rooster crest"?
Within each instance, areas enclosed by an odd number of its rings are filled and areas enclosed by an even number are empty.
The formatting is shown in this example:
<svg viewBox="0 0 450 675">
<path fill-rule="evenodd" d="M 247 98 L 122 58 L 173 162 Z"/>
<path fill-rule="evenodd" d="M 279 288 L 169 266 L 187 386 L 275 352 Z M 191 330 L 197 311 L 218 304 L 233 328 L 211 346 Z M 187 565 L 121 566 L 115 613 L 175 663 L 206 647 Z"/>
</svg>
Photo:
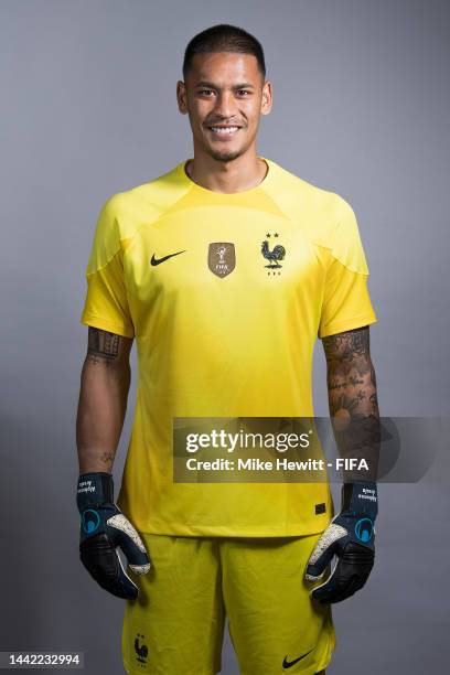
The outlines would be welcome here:
<svg viewBox="0 0 450 675">
<path fill-rule="evenodd" d="M 320 339 L 377 321 L 367 288 L 368 276 L 356 216 L 350 204 L 339 197 L 325 274 Z"/>
</svg>

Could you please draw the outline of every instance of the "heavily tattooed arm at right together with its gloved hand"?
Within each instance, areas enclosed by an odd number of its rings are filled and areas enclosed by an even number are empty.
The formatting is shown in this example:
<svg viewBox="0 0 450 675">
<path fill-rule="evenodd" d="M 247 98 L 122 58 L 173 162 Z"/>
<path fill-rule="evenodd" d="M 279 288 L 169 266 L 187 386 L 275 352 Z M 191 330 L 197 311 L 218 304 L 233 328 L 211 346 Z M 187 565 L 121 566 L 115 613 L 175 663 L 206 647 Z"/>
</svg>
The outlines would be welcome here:
<svg viewBox="0 0 450 675">
<path fill-rule="evenodd" d="M 338 557 L 329 578 L 311 592 L 314 600 L 328 604 L 341 602 L 363 588 L 374 566 L 381 425 L 368 326 L 326 336 L 323 349 L 338 451 L 345 459 L 364 459 L 369 468 L 344 469 L 341 511 L 308 560 L 306 579 L 318 581 Z"/>
</svg>

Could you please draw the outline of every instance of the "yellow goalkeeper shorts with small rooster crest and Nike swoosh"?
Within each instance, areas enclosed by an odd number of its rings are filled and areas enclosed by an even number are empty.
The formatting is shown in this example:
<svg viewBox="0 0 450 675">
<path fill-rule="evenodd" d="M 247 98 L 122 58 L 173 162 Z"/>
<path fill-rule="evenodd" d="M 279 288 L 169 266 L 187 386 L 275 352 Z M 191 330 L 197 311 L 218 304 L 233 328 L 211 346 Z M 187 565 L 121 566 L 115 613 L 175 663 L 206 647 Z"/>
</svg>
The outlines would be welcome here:
<svg viewBox="0 0 450 675">
<path fill-rule="evenodd" d="M 219 673 L 225 615 L 242 675 L 313 675 L 328 665 L 335 646 L 331 607 L 311 600 L 313 585 L 303 580 L 320 534 L 141 536 L 152 568 L 132 576 L 139 598 L 126 602 L 127 673 Z"/>
</svg>

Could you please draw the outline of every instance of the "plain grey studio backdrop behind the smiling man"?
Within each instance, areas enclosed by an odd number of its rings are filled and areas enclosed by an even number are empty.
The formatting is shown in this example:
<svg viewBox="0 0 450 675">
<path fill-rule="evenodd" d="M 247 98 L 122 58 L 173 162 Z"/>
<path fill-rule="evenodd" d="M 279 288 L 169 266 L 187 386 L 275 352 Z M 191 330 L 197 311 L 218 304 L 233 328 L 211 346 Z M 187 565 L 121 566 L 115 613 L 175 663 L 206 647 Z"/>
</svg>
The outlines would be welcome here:
<svg viewBox="0 0 450 675">
<path fill-rule="evenodd" d="M 1 1 L 1 649 L 122 673 L 121 602 L 77 559 L 84 270 L 104 201 L 192 157 L 175 83 L 200 30 L 261 40 L 275 105 L 258 150 L 356 212 L 382 414 L 449 415 L 449 18 L 437 0 Z M 319 342 L 314 399 L 326 415 Z M 335 607 L 329 673 L 446 669 L 448 495 L 448 476 L 381 486 L 377 566 Z"/>
</svg>

